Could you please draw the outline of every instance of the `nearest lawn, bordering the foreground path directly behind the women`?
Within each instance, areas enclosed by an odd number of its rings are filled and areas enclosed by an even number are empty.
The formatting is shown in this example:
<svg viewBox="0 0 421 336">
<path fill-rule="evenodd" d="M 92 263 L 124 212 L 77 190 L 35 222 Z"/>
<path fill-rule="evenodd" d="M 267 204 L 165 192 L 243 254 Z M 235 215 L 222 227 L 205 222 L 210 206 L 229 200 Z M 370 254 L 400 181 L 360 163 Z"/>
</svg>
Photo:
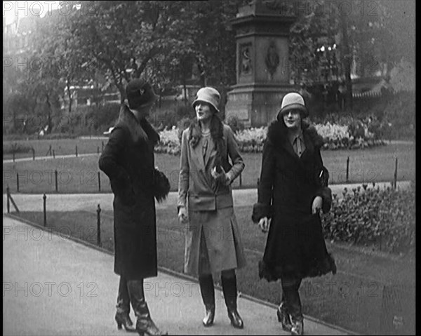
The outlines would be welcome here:
<svg viewBox="0 0 421 336">
<path fill-rule="evenodd" d="M 258 261 L 262 257 L 266 235 L 251 224 L 250 207 L 235 209 L 239 229 L 246 248 L 248 265 L 238 271 L 238 288 L 261 300 L 279 303 L 279 283 L 267 283 L 258 278 Z M 22 213 L 22 217 L 42 223 L 42 213 Z M 157 247 L 159 265 L 182 272 L 184 257 L 184 227 L 178 223 L 173 209 L 158 210 Z M 114 250 L 112 212 L 101 213 L 102 247 Z M 96 244 L 96 213 L 48 213 L 47 226 L 62 234 Z M 342 328 L 377 334 L 380 330 L 383 288 L 396 286 L 403 289 L 403 314 L 409 323 L 415 318 L 415 258 L 370 252 L 346 244 L 326 242 L 333 253 L 338 273 L 320 278 L 305 279 L 300 288 L 304 314 L 320 318 Z M 396 309 L 396 304 L 394 304 Z"/>
</svg>

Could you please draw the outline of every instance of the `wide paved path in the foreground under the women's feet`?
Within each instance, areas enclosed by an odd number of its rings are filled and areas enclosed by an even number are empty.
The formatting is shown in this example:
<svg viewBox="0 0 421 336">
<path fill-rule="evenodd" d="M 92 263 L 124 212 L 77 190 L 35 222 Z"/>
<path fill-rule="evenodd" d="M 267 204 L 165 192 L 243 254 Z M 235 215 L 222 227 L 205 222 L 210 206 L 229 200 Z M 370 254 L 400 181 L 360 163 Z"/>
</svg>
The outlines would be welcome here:
<svg viewBox="0 0 421 336">
<path fill-rule="evenodd" d="M 119 279 L 112 255 L 9 217 L 3 236 L 4 335 L 128 335 L 114 322 Z M 215 325 L 203 328 L 199 286 L 182 277 L 159 272 L 145 280 L 145 295 L 152 318 L 170 335 L 289 335 L 274 307 L 244 297 L 238 304 L 245 328 L 232 328 L 220 290 Z M 346 335 L 307 316 L 305 334 Z"/>
</svg>

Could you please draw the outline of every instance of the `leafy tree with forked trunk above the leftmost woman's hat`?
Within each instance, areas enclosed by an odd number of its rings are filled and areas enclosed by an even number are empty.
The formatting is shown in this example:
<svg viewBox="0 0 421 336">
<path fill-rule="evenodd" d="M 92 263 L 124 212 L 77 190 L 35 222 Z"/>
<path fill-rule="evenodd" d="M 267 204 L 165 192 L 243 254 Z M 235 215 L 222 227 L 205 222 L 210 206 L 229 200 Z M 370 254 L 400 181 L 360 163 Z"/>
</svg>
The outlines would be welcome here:
<svg viewBox="0 0 421 336">
<path fill-rule="evenodd" d="M 165 81 L 175 51 L 189 45 L 180 22 L 182 1 L 71 1 L 69 6 L 75 47 L 114 83 L 121 102 L 131 78 L 147 74 L 153 83 Z"/>
</svg>

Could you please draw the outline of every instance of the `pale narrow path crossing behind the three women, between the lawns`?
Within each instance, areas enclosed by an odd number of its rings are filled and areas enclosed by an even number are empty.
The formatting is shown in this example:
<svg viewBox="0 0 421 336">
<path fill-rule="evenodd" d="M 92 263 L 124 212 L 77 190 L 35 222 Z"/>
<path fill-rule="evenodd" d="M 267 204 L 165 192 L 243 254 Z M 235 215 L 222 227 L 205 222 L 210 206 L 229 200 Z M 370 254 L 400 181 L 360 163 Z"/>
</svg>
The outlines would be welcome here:
<svg viewBox="0 0 421 336">
<path fill-rule="evenodd" d="M 410 182 L 400 181 L 397 183 L 399 188 L 408 187 Z M 347 187 L 349 192 L 361 184 L 333 184 L 330 185 L 333 194 L 342 197 L 342 191 Z M 389 187 L 389 182 L 377 183 L 376 187 Z M 372 188 L 373 184 L 368 184 Z M 41 194 L 13 194 L 19 210 L 21 211 L 41 211 L 43 209 L 43 199 Z M 258 200 L 257 189 L 235 189 L 233 191 L 234 206 L 253 206 Z M 74 211 L 74 210 L 96 210 L 98 203 L 102 210 L 112 210 L 113 194 L 47 194 L 48 211 Z M 11 209 L 13 206 L 11 205 Z M 6 194 L 3 195 L 3 208 L 6 212 Z M 166 201 L 156 203 L 156 209 L 177 208 L 177 193 L 171 192 Z M 175 211 L 175 210 L 174 210 Z"/>
</svg>

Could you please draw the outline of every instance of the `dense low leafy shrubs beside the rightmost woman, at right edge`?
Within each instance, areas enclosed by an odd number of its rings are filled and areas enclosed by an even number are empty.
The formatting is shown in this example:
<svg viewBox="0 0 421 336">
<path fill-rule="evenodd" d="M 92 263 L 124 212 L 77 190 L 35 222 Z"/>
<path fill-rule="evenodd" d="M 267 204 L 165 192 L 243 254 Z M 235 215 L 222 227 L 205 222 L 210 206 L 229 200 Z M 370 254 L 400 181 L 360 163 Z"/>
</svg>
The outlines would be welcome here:
<svg viewBox="0 0 421 336">
<path fill-rule="evenodd" d="M 323 215 L 325 238 L 355 244 L 378 245 L 394 253 L 415 248 L 415 184 L 407 190 L 361 187 L 333 197 Z"/>
</svg>

